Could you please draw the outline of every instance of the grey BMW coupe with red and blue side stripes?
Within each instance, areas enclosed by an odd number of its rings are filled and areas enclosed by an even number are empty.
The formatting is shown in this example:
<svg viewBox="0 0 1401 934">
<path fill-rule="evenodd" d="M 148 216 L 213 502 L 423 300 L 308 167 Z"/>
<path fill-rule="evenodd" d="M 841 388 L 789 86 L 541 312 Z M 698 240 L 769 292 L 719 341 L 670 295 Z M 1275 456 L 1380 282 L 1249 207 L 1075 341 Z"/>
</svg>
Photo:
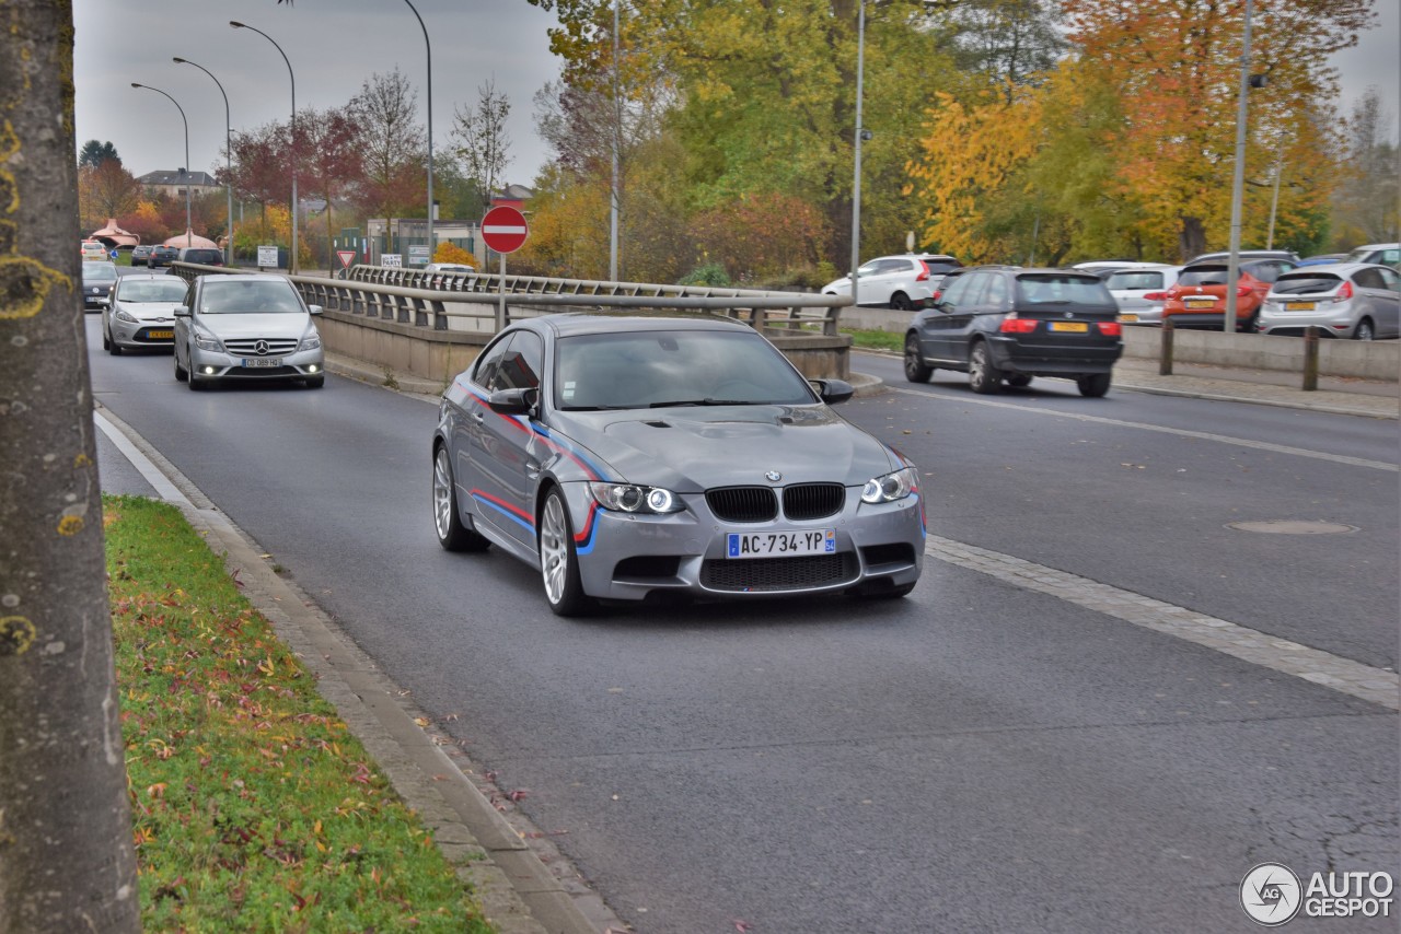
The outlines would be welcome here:
<svg viewBox="0 0 1401 934">
<path fill-rule="evenodd" d="M 919 475 L 828 407 L 849 384 L 814 384 L 731 321 L 517 322 L 443 395 L 439 542 L 537 567 L 566 616 L 597 599 L 902 597 L 923 562 Z"/>
</svg>

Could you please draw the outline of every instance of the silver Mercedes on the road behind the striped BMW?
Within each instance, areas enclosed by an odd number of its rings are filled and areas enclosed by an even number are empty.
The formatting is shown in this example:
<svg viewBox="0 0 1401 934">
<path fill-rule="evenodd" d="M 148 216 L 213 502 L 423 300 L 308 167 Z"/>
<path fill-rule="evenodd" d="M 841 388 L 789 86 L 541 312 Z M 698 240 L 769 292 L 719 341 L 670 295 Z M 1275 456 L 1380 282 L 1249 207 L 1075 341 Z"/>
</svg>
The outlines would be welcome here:
<svg viewBox="0 0 1401 934">
<path fill-rule="evenodd" d="M 293 284 L 276 273 L 196 276 L 175 308 L 175 378 L 326 381 L 321 335 Z"/>
</svg>

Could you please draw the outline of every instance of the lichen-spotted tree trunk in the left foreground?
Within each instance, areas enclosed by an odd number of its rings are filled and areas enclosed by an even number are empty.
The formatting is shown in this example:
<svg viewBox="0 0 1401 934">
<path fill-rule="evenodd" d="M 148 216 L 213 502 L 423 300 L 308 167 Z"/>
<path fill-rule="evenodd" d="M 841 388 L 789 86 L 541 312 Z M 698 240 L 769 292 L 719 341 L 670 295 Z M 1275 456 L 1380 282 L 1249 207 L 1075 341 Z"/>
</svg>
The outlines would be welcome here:
<svg viewBox="0 0 1401 934">
<path fill-rule="evenodd" d="M 0 7 L 0 931 L 140 928 L 78 284 L 73 7 Z"/>
</svg>

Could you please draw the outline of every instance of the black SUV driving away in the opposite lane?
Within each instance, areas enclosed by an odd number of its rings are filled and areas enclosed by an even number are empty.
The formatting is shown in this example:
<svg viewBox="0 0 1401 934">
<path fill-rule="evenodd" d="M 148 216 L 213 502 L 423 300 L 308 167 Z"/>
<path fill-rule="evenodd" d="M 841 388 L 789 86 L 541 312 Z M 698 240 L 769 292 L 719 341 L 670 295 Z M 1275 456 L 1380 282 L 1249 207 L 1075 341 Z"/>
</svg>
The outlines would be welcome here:
<svg viewBox="0 0 1401 934">
<path fill-rule="evenodd" d="M 1124 353 L 1118 307 L 1094 273 L 1076 269 L 982 267 L 948 279 L 905 333 L 905 378 L 934 370 L 968 374 L 974 392 L 1068 377 L 1086 396 L 1110 391 Z"/>
</svg>

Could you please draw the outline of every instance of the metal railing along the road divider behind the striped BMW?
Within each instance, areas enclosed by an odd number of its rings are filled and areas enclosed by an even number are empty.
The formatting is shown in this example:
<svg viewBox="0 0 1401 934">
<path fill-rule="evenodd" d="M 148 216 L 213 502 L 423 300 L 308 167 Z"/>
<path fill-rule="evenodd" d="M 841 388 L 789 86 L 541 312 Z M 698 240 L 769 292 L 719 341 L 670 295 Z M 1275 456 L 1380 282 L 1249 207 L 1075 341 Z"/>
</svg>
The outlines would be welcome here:
<svg viewBox="0 0 1401 934">
<path fill-rule="evenodd" d="M 172 263 L 171 270 L 186 280 L 207 273 L 252 272 L 181 262 Z M 495 322 L 502 277 L 481 272 L 448 273 L 391 266 L 356 266 L 349 279 L 324 276 L 287 276 L 287 279 L 297 286 L 307 304 L 321 305 L 328 311 L 345 311 L 417 328 L 448 330 L 448 319 L 451 318 Z M 831 337 L 838 335 L 841 309 L 850 305 L 850 300 L 842 295 L 546 279 L 541 276 L 506 276 L 506 321 L 503 323 L 513 321 L 513 305 L 516 311 L 535 314 L 570 308 L 619 311 L 672 308 L 719 312 L 752 328 L 810 330 L 810 326 L 815 326 L 818 333 Z M 481 307 L 481 309 L 474 311 L 471 307 Z"/>
</svg>

